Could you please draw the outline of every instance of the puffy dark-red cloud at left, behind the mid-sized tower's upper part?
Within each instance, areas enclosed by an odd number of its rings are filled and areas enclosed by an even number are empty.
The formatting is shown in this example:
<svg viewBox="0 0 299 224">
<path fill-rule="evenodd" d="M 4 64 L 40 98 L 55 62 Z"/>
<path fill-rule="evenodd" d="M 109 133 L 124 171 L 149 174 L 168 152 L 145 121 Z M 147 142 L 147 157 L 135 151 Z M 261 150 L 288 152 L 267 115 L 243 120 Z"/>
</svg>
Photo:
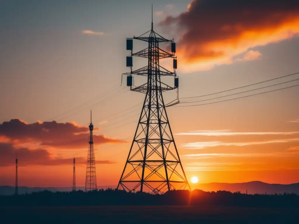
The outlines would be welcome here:
<svg viewBox="0 0 299 224">
<path fill-rule="evenodd" d="M 94 128 L 98 130 L 98 128 Z M 11 119 L 0 124 L 0 138 L 10 139 L 14 145 L 24 142 L 39 142 L 41 146 L 60 148 L 82 148 L 89 142 L 89 128 L 74 122 L 57 123 L 35 122 L 28 124 L 19 119 Z M 112 139 L 105 135 L 93 135 L 94 145 L 106 143 L 122 143 L 119 139 Z"/>
</svg>

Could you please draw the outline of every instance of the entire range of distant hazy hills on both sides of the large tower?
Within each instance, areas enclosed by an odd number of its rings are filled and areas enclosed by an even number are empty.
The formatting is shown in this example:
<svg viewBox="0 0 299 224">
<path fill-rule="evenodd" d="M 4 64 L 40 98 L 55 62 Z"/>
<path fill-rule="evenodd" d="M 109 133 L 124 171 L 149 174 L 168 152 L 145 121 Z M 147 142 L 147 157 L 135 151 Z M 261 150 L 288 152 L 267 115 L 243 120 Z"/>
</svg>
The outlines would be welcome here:
<svg viewBox="0 0 299 224">
<path fill-rule="evenodd" d="M 98 189 L 116 188 L 116 185 L 98 186 Z M 295 193 L 299 195 L 299 183 L 294 184 L 268 184 L 260 181 L 252 181 L 246 183 L 208 183 L 208 184 L 197 184 L 196 189 L 203 191 L 240 191 L 241 193 L 247 194 L 283 194 L 283 193 Z M 193 188 L 194 189 L 194 188 Z M 71 191 L 72 187 L 19 187 L 19 194 L 30 194 L 36 191 Z M 83 190 L 84 187 L 76 187 L 76 190 Z M 0 195 L 12 195 L 15 193 L 15 188 L 11 186 L 0 186 Z"/>
</svg>

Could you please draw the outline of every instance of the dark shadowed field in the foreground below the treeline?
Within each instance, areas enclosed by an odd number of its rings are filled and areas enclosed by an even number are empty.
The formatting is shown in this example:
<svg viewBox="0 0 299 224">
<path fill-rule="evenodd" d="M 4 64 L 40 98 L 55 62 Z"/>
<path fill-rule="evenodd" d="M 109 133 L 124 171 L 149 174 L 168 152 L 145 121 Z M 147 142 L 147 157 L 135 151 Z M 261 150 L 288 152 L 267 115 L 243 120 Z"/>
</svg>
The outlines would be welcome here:
<svg viewBox="0 0 299 224">
<path fill-rule="evenodd" d="M 1 223 L 298 223 L 298 208 L 90 206 L 0 208 Z"/>
</svg>

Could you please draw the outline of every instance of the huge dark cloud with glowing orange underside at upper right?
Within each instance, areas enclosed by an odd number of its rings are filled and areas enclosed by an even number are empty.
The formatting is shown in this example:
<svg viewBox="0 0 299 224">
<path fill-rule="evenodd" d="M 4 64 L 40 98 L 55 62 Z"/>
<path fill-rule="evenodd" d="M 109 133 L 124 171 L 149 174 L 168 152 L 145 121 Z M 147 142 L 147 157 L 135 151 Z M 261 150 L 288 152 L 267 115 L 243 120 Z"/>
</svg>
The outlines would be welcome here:
<svg viewBox="0 0 299 224">
<path fill-rule="evenodd" d="M 233 63 L 250 48 L 297 36 L 299 2 L 193 0 L 185 12 L 167 16 L 160 26 L 178 33 L 183 72 L 208 70 Z"/>
</svg>

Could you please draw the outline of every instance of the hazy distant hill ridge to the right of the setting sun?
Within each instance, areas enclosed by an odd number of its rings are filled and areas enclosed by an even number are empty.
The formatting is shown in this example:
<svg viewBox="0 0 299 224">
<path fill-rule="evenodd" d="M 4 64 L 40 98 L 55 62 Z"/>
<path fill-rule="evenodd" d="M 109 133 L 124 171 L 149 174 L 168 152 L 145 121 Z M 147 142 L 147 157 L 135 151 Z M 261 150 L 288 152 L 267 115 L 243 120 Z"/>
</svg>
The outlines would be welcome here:
<svg viewBox="0 0 299 224">
<path fill-rule="evenodd" d="M 203 191 L 240 191 L 247 194 L 283 194 L 295 193 L 299 195 L 299 183 L 294 184 L 268 184 L 260 181 L 246 183 L 208 183 L 197 184 L 196 189 Z"/>
</svg>

